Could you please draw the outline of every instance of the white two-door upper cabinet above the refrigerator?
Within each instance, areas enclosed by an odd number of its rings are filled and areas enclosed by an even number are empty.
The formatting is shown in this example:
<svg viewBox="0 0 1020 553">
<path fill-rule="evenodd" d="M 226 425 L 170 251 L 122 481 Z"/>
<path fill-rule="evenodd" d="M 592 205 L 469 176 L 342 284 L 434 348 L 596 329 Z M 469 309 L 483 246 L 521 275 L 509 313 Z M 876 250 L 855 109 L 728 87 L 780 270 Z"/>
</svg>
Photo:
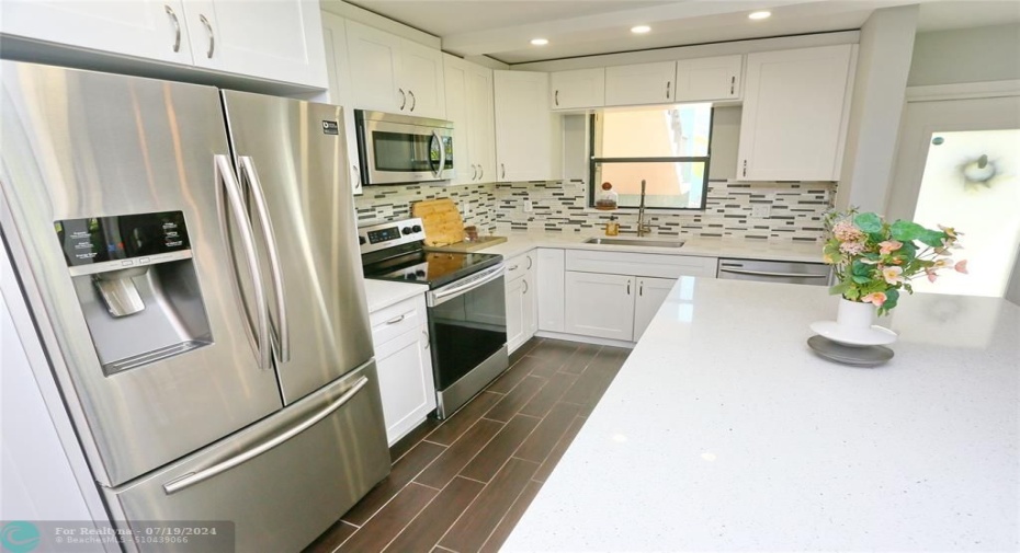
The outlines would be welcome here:
<svg viewBox="0 0 1020 553">
<path fill-rule="evenodd" d="M 2 32 L 134 58 L 327 87 L 309 0 L 7 1 Z"/>
</svg>

